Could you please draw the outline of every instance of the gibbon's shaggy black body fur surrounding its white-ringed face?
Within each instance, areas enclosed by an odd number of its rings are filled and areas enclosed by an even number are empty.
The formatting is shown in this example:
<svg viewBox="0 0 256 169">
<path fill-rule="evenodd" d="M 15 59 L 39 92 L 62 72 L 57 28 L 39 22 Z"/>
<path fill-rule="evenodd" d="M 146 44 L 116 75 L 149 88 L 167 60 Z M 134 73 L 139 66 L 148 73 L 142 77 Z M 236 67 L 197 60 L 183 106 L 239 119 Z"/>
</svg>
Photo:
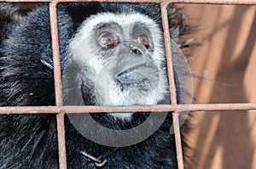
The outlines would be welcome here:
<svg viewBox="0 0 256 169">
<path fill-rule="evenodd" d="M 159 8 L 151 4 L 59 5 L 61 67 L 65 65 L 67 42 L 81 22 L 90 14 L 104 11 L 138 11 L 158 17 Z M 48 6 L 36 8 L 20 17 L 12 5 L 0 3 L 0 19 L 0 105 L 54 105 L 53 70 L 42 64 L 42 60 L 52 64 Z M 177 26 L 177 30 L 180 29 L 183 27 Z M 73 169 L 96 168 L 79 152 L 84 151 L 96 157 L 103 155 L 103 160 L 108 161 L 104 168 L 177 168 L 174 136 L 169 134 L 171 121 L 172 115 L 168 115 L 165 123 L 148 139 L 115 149 L 84 138 L 66 118 L 67 166 Z M 114 122 L 110 121 L 106 126 L 113 125 Z M 124 124 L 116 125 L 115 128 L 126 127 Z M 55 115 L 0 115 L 1 169 L 57 167 Z"/>
</svg>

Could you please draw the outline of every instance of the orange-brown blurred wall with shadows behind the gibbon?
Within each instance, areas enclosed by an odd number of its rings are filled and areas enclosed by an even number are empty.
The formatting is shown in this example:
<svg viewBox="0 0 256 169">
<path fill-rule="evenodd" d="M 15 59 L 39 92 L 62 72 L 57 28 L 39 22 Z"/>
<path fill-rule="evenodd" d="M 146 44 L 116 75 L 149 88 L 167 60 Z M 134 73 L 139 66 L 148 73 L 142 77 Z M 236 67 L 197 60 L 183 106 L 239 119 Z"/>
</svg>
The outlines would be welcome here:
<svg viewBox="0 0 256 169">
<path fill-rule="evenodd" d="M 256 103 L 255 6 L 183 5 L 192 49 L 195 103 Z M 186 37 L 189 38 L 189 37 Z M 189 142 L 197 169 L 256 168 L 256 110 L 194 112 Z"/>
</svg>

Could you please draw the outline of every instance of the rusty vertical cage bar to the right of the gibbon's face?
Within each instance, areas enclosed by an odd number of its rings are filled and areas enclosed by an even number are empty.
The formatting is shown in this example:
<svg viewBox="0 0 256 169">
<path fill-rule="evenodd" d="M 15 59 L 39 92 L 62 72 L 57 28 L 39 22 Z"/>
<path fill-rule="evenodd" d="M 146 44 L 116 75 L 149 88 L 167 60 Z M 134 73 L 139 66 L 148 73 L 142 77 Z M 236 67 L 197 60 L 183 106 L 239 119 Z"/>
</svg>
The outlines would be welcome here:
<svg viewBox="0 0 256 169">
<path fill-rule="evenodd" d="M 173 73 L 173 63 L 172 63 L 172 46 L 171 46 L 172 44 L 171 44 L 170 28 L 168 23 L 168 14 L 167 14 L 168 5 L 169 3 L 160 3 L 164 37 L 165 37 L 165 46 L 166 46 L 166 65 L 167 65 L 168 79 L 169 79 L 169 90 L 171 93 L 171 100 L 172 100 L 171 102 L 172 104 L 177 104 L 177 93 L 176 93 L 176 86 L 175 86 L 174 73 Z M 184 168 L 183 150 L 182 150 L 178 117 L 179 117 L 179 114 L 177 114 L 177 110 L 175 110 L 172 113 L 172 124 L 173 124 L 173 130 L 175 133 L 177 167 L 178 169 L 183 169 Z"/>
</svg>

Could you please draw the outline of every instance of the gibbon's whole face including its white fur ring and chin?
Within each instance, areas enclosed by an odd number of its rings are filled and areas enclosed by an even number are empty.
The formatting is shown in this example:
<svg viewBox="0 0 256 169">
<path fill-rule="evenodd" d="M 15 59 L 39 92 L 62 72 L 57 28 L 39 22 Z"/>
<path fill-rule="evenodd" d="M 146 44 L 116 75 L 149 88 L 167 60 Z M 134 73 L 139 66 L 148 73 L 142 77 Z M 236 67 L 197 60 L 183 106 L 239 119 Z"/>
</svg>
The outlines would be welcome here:
<svg viewBox="0 0 256 169">
<path fill-rule="evenodd" d="M 167 87 L 162 43 L 160 26 L 146 15 L 91 15 L 67 47 L 65 104 L 157 104 Z"/>
</svg>

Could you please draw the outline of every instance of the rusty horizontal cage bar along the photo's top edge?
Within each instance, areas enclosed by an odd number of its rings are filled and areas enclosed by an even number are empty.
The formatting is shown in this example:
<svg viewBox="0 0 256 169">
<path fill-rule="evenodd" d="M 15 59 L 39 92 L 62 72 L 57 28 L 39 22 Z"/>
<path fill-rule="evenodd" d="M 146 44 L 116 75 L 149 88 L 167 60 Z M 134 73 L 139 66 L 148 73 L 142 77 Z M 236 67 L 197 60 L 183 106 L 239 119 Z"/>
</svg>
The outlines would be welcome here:
<svg viewBox="0 0 256 169">
<path fill-rule="evenodd" d="M 201 4 L 256 4 L 255 0 L 0 0 L 13 3 L 113 2 L 113 3 L 201 3 Z"/>
</svg>

